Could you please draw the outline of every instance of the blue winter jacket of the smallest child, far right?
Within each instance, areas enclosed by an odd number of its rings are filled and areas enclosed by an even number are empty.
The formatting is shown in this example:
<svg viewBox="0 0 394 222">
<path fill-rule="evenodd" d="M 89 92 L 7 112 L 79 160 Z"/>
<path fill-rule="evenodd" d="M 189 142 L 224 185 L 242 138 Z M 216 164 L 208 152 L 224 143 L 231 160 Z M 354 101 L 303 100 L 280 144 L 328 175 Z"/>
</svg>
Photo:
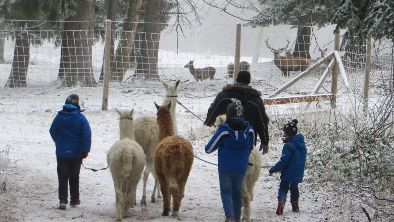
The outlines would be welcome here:
<svg viewBox="0 0 394 222">
<path fill-rule="evenodd" d="M 280 160 L 274 165 L 274 172 L 280 171 L 280 179 L 291 183 L 301 183 L 304 177 L 307 147 L 304 136 L 297 134 L 285 139 Z"/>
</svg>

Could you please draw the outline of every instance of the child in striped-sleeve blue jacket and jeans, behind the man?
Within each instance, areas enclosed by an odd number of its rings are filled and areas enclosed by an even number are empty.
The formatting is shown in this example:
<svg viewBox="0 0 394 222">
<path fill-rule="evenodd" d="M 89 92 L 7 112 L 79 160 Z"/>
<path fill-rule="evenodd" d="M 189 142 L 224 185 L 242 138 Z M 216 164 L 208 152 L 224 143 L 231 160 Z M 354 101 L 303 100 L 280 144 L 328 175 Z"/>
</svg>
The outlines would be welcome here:
<svg viewBox="0 0 394 222">
<path fill-rule="evenodd" d="M 248 159 L 255 143 L 255 132 L 243 119 L 243 106 L 233 99 L 227 106 L 226 123 L 219 126 L 205 146 L 207 153 L 218 149 L 220 195 L 225 221 L 240 221 L 242 183 L 248 170 Z"/>
</svg>

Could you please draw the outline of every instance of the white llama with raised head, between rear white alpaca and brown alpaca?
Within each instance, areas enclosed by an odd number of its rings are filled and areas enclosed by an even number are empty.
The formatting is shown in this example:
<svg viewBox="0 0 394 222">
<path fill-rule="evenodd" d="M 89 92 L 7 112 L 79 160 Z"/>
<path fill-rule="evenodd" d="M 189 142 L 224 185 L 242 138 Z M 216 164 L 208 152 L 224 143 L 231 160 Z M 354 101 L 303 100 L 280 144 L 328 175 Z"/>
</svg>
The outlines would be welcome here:
<svg viewBox="0 0 394 222">
<path fill-rule="evenodd" d="M 176 81 L 175 85 L 168 85 L 164 81 L 161 82 L 163 83 L 164 87 L 166 87 L 166 96 L 164 97 L 162 105 L 167 105 L 171 101 L 172 105 L 170 108 L 170 113 L 173 119 L 174 135 L 178 135 L 178 126 L 176 123 L 175 108 L 176 108 L 176 103 L 178 101 L 178 85 L 180 80 Z M 159 127 L 157 125 L 156 117 L 148 117 L 148 116 L 143 116 L 135 119 L 134 126 L 135 126 L 134 136 L 136 138 L 135 140 L 139 145 L 142 146 L 142 149 L 145 152 L 145 156 L 146 156 L 146 168 L 145 171 L 143 172 L 143 191 L 142 191 L 142 198 L 140 201 L 141 205 L 146 206 L 146 182 L 149 173 L 151 172 L 155 178 L 155 186 L 153 188 L 151 202 L 155 203 L 157 201 L 156 191 L 157 191 L 157 198 L 162 197 L 160 193 L 160 184 L 155 173 L 155 164 L 153 157 L 156 147 L 159 144 L 159 140 L 158 140 Z"/>
</svg>

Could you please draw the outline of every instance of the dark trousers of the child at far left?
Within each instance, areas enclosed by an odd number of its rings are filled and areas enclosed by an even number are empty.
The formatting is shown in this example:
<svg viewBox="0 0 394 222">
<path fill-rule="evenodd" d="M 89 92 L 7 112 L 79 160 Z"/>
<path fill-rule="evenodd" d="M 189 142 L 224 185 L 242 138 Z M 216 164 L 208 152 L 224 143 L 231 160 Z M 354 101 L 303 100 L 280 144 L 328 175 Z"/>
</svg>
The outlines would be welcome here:
<svg viewBox="0 0 394 222">
<path fill-rule="evenodd" d="M 79 172 L 81 170 L 81 158 L 57 157 L 59 200 L 67 201 L 68 185 L 70 182 L 70 200 L 79 200 Z M 68 202 L 68 201 L 67 201 Z"/>
</svg>

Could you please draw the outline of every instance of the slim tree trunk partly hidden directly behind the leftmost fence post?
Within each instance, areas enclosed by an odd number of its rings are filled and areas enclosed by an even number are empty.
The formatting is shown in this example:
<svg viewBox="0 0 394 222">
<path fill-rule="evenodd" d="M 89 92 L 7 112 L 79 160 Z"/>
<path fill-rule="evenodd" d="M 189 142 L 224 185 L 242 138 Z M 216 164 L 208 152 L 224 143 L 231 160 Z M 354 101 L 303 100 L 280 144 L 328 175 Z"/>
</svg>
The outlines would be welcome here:
<svg viewBox="0 0 394 222">
<path fill-rule="evenodd" d="M 110 42 L 110 61 L 114 60 L 115 55 L 115 31 L 116 31 L 116 19 L 117 19 L 117 12 L 118 12 L 118 0 L 110 0 L 108 3 L 108 11 L 107 11 L 107 19 L 111 20 L 111 42 Z M 104 54 L 105 54 L 104 49 Z M 103 55 L 103 65 L 101 67 L 100 78 L 98 81 L 104 80 L 104 61 L 105 56 Z"/>
</svg>

